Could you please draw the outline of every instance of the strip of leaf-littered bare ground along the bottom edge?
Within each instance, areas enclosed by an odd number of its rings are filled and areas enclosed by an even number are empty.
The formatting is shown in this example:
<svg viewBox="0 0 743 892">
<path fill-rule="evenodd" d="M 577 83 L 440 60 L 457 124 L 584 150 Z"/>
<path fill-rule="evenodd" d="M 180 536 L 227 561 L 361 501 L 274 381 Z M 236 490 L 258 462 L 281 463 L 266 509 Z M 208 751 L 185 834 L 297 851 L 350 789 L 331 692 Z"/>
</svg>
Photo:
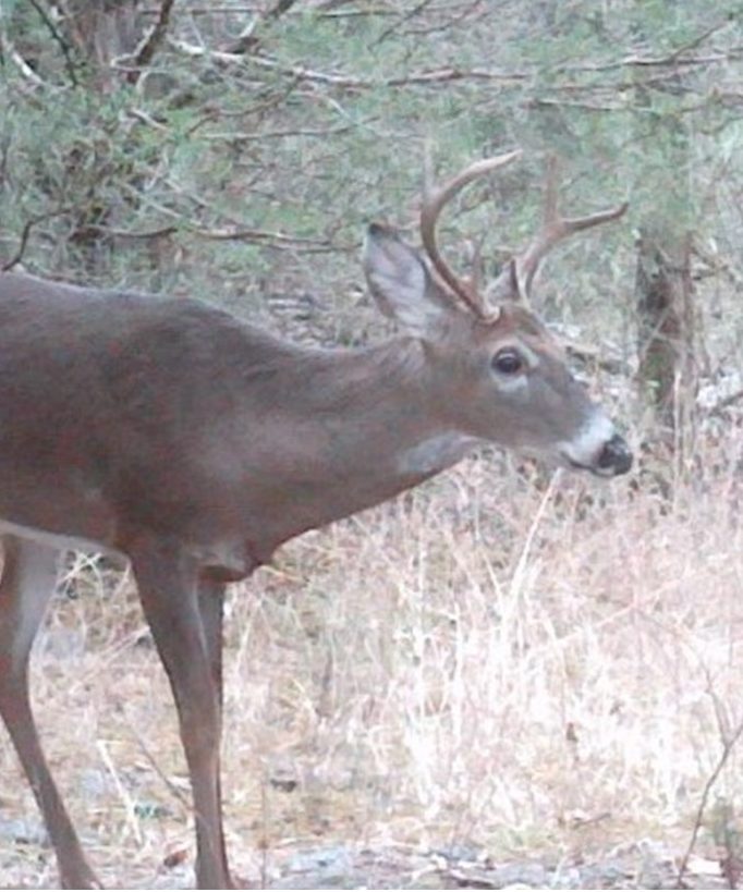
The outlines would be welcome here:
<svg viewBox="0 0 743 892">
<path fill-rule="evenodd" d="M 2 828 L 0 885 L 56 888 L 51 852 L 28 842 L 11 845 L 12 828 Z M 15 828 L 20 833 L 21 828 Z M 414 851 L 404 846 L 379 848 L 343 844 L 287 847 L 256 853 L 237 864 L 243 888 L 264 889 L 730 889 L 734 880 L 723 876 L 723 865 L 691 858 L 679 882 L 680 856 L 663 852 L 650 841 L 616 848 L 592 858 L 496 863 L 465 848 Z M 167 859 L 155 876 L 131 876 L 102 870 L 108 888 L 183 889 L 193 887 L 193 869 L 178 857 Z"/>
</svg>

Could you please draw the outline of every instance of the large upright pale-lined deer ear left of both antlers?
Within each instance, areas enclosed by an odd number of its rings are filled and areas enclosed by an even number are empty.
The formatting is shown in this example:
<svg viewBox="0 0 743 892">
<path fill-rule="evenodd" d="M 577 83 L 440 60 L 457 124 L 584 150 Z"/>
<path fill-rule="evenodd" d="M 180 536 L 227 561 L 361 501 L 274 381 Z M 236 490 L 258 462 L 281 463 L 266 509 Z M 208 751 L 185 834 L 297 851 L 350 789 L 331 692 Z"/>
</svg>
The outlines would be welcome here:
<svg viewBox="0 0 743 892">
<path fill-rule="evenodd" d="M 425 338 L 451 306 L 415 248 L 387 227 L 373 223 L 364 245 L 364 272 L 377 306 L 410 334 Z"/>
</svg>

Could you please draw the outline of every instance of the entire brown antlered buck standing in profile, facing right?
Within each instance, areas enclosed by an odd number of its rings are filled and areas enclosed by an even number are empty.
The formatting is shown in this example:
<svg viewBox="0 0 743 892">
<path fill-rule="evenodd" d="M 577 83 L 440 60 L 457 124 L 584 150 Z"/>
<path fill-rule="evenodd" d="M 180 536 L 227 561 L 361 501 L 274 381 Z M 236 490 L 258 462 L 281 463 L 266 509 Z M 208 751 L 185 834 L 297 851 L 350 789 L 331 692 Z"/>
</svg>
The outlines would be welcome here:
<svg viewBox="0 0 743 892">
<path fill-rule="evenodd" d="M 0 713 L 65 888 L 97 888 L 42 754 L 28 655 L 70 548 L 131 562 L 173 689 L 200 888 L 231 883 L 220 803 L 228 583 L 304 530 L 390 499 L 489 441 L 611 477 L 632 456 L 528 309 L 568 235 L 618 218 L 557 208 L 489 305 L 443 261 L 442 208 L 519 152 L 423 201 L 425 254 L 372 225 L 364 269 L 403 333 L 354 350 L 295 346 L 203 303 L 0 274 Z"/>
</svg>

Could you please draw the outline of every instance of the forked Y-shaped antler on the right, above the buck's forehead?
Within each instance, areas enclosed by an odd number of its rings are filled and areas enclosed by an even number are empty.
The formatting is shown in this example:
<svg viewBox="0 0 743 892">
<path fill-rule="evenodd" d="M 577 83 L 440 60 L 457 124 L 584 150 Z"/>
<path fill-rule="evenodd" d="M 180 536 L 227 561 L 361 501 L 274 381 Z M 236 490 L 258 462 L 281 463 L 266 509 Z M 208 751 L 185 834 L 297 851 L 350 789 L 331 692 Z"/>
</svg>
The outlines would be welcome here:
<svg viewBox="0 0 743 892">
<path fill-rule="evenodd" d="M 609 210 L 600 210 L 586 217 L 562 217 L 558 209 L 559 176 L 557 159 L 552 156 L 547 162 L 545 184 L 545 210 L 541 228 L 532 243 L 502 270 L 489 289 L 496 300 L 520 300 L 528 302 L 532 282 L 539 264 L 545 256 L 563 239 L 575 232 L 598 227 L 617 220 L 628 209 L 629 204 Z"/>
</svg>

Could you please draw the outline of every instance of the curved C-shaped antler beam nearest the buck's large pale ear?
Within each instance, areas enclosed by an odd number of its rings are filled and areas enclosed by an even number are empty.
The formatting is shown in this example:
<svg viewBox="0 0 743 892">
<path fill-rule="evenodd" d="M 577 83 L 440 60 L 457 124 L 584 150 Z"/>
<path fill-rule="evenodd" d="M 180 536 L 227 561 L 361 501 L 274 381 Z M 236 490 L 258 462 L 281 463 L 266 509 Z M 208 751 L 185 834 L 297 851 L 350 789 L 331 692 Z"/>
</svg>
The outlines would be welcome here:
<svg viewBox="0 0 743 892">
<path fill-rule="evenodd" d="M 516 149 L 515 151 L 509 151 L 504 155 L 497 155 L 491 158 L 475 161 L 435 191 L 429 191 L 426 184 L 426 194 L 424 195 L 423 206 L 421 208 L 421 239 L 426 254 L 434 269 L 446 284 L 449 285 L 454 294 L 477 316 L 484 315 L 479 300 L 476 293 L 452 272 L 441 257 L 436 242 L 436 224 L 443 207 L 451 201 L 467 183 L 510 163 L 520 155 L 521 149 Z"/>
</svg>

